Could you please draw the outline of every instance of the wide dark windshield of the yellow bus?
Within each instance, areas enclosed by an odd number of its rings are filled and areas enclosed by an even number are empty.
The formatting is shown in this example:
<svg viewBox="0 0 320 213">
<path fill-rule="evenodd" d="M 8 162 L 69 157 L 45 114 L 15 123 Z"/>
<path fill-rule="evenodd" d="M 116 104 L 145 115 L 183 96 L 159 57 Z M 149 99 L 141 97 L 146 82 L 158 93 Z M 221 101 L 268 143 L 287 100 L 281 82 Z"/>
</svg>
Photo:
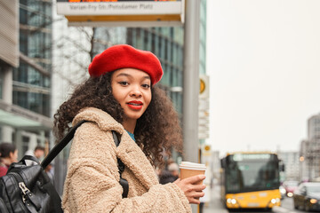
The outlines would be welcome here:
<svg viewBox="0 0 320 213">
<path fill-rule="evenodd" d="M 227 193 L 244 193 L 279 188 L 277 158 L 235 158 L 229 156 L 226 168 Z"/>
</svg>

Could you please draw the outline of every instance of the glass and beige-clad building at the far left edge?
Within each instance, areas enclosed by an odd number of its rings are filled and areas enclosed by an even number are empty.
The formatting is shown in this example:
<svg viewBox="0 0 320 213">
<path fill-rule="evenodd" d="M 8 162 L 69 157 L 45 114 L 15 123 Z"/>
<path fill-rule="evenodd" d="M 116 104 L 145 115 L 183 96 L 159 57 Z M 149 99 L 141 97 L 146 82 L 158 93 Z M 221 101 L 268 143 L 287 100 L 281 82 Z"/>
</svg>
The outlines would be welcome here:
<svg viewBox="0 0 320 213">
<path fill-rule="evenodd" d="M 14 143 L 21 157 L 49 145 L 52 1 L 0 4 L 0 141 Z"/>
</svg>

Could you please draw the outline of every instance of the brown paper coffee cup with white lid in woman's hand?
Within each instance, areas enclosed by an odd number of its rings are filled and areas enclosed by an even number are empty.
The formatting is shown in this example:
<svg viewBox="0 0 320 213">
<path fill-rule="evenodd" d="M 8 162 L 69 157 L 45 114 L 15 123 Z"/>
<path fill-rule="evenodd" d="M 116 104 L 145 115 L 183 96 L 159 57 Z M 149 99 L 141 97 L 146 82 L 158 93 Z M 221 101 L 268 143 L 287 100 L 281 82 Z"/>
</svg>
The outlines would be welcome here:
<svg viewBox="0 0 320 213">
<path fill-rule="evenodd" d="M 180 179 L 192 177 L 196 175 L 204 175 L 206 166 L 196 162 L 181 162 L 180 168 Z M 204 181 L 199 181 L 196 184 L 202 184 Z"/>
</svg>

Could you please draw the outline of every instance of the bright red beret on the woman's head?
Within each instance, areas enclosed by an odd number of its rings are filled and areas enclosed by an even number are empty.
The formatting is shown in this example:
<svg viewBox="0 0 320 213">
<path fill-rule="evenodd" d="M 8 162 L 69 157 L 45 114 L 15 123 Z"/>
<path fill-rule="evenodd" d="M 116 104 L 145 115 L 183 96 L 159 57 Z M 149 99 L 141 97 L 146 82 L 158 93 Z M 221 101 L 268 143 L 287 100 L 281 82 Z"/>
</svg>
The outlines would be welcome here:
<svg viewBox="0 0 320 213">
<path fill-rule="evenodd" d="M 89 65 L 89 74 L 98 77 L 121 68 L 136 68 L 148 73 L 152 85 L 159 82 L 164 74 L 155 54 L 150 51 L 140 51 L 127 44 L 111 46 L 96 55 Z"/>
</svg>

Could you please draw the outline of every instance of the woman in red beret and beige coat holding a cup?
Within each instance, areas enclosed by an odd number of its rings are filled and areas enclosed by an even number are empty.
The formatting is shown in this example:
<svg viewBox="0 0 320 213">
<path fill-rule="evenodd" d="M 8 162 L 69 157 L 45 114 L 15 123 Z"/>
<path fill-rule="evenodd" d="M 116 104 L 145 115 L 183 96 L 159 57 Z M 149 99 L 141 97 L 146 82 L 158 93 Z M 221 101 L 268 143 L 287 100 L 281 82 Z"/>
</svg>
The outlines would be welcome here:
<svg viewBox="0 0 320 213">
<path fill-rule="evenodd" d="M 172 102 L 156 83 L 163 70 L 149 51 L 126 44 L 97 55 L 91 77 L 76 88 L 55 117 L 55 134 L 62 138 L 68 124 L 76 130 L 62 208 L 65 212 L 191 212 L 205 185 L 204 176 L 160 185 L 154 168 L 162 154 L 181 145 L 179 119 Z M 116 147 L 111 130 L 121 135 Z M 129 183 L 122 198 L 116 158 L 124 162 L 122 177 Z"/>
</svg>

